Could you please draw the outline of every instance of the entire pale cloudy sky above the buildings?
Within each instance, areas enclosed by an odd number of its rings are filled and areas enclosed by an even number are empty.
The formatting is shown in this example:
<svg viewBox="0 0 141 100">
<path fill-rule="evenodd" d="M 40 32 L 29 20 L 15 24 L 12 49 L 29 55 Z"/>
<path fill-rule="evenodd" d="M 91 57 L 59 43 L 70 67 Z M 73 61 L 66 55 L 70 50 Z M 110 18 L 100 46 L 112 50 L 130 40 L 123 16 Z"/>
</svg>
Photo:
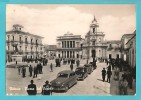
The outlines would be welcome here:
<svg viewBox="0 0 141 100">
<path fill-rule="evenodd" d="M 6 31 L 20 24 L 23 31 L 43 36 L 43 44 L 56 44 L 57 36 L 67 32 L 85 38 L 96 17 L 105 40 L 120 40 L 136 29 L 135 5 L 101 4 L 7 4 Z"/>
</svg>

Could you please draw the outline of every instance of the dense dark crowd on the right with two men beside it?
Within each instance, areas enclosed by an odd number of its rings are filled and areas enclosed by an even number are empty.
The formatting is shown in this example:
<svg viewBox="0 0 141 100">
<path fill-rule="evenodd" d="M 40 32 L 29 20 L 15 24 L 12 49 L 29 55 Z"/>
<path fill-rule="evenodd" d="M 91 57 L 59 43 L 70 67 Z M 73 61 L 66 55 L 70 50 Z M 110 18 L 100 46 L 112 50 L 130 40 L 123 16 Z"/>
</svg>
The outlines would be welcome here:
<svg viewBox="0 0 141 100">
<path fill-rule="evenodd" d="M 107 81 L 110 82 L 112 71 L 114 70 L 114 79 L 119 81 L 119 94 L 128 95 L 128 88 L 133 89 L 133 79 L 136 79 L 136 67 L 130 66 L 128 62 L 123 59 L 106 59 L 105 62 L 108 65 L 107 72 L 105 68 L 102 70 L 102 79 L 105 81 L 107 74 Z M 120 76 L 120 72 L 122 73 Z"/>
</svg>

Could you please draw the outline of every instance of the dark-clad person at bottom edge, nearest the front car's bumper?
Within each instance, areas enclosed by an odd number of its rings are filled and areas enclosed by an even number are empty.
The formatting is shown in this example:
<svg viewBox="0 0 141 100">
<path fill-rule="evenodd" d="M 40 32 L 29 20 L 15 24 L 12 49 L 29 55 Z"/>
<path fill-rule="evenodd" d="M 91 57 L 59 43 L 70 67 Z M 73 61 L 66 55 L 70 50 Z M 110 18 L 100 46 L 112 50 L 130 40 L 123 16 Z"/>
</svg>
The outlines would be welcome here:
<svg viewBox="0 0 141 100">
<path fill-rule="evenodd" d="M 46 81 L 42 87 L 42 95 L 52 95 L 52 87 L 49 84 L 49 81 Z"/>
</svg>

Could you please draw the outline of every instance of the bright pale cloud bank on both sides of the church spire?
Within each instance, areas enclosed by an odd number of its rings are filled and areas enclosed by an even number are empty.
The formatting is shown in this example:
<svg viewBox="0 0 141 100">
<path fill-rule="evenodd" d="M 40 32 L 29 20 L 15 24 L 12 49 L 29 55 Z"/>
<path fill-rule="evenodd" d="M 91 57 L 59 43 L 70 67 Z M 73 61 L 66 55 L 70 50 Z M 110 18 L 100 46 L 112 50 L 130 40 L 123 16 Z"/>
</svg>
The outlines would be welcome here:
<svg viewBox="0 0 141 100">
<path fill-rule="evenodd" d="M 24 31 L 45 37 L 44 44 L 56 44 L 56 37 L 68 31 L 84 37 L 93 20 L 93 13 L 82 12 L 69 5 L 54 9 L 29 9 L 26 6 L 9 4 L 6 11 L 6 30 L 11 30 L 13 24 L 21 24 Z M 132 32 L 135 28 L 135 16 L 132 15 L 106 15 L 97 19 L 106 39 L 120 39 L 122 34 Z"/>
</svg>

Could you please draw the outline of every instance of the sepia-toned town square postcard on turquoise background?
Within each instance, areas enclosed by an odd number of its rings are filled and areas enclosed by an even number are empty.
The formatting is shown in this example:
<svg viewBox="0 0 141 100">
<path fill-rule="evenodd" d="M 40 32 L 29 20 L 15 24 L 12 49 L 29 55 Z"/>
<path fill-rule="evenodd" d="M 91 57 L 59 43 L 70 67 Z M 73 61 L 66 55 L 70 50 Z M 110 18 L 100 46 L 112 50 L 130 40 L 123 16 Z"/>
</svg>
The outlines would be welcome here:
<svg viewBox="0 0 141 100">
<path fill-rule="evenodd" d="M 6 4 L 6 95 L 136 95 L 134 4 Z"/>
</svg>

